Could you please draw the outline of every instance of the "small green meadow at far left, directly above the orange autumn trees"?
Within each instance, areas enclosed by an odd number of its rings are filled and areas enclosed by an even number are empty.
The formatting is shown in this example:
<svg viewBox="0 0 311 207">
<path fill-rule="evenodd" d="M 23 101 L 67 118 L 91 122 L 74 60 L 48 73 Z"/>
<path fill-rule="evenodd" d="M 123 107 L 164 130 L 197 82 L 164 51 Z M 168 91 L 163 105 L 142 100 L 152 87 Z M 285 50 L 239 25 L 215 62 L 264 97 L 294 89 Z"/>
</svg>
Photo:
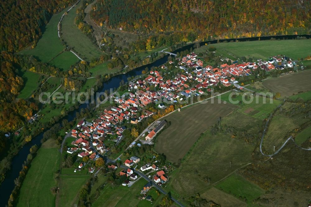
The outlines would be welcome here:
<svg viewBox="0 0 311 207">
<path fill-rule="evenodd" d="M 24 81 L 24 87 L 20 91 L 20 94 L 17 96 L 17 98 L 20 99 L 28 99 L 41 84 L 41 81 L 43 81 L 41 77 L 47 77 L 46 75 L 31 72 L 28 70 L 21 71 L 20 76 Z"/>
</svg>

